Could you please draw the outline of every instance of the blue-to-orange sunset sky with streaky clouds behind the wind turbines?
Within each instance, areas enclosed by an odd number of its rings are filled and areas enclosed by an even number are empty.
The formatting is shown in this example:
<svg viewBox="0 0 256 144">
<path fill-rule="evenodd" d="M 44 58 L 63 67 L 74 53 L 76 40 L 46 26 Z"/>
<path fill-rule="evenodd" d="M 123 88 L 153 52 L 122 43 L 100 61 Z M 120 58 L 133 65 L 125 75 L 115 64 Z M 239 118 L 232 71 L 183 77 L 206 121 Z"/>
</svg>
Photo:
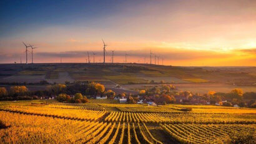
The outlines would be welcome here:
<svg viewBox="0 0 256 144">
<path fill-rule="evenodd" d="M 0 1 L 0 63 L 109 62 L 256 66 L 256 1 Z M 30 49 L 29 49 L 30 50 Z M 91 57 L 92 58 L 92 57 Z M 31 54 L 29 53 L 29 62 Z M 152 57 L 154 63 L 154 55 Z"/>
</svg>

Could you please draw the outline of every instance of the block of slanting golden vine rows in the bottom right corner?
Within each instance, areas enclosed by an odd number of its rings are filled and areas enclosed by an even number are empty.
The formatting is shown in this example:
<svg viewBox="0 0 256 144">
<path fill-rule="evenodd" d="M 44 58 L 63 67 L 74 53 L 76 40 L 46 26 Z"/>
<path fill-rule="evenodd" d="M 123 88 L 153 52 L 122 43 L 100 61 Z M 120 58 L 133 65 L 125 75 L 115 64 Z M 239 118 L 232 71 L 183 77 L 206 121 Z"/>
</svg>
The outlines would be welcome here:
<svg viewBox="0 0 256 144">
<path fill-rule="evenodd" d="M 240 124 L 160 124 L 160 127 L 180 143 L 227 143 L 234 133 L 254 133 L 255 125 Z"/>
</svg>

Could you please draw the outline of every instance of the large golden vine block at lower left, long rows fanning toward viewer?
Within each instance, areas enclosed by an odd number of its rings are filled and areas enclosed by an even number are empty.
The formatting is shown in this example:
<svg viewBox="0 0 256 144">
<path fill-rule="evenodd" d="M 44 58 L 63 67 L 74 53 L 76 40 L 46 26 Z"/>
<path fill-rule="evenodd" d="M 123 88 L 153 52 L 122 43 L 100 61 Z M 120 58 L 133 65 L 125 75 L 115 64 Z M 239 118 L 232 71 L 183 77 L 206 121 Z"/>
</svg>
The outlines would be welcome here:
<svg viewBox="0 0 256 144">
<path fill-rule="evenodd" d="M 145 123 L 76 121 L 3 111 L 0 120 L 11 126 L 0 129 L 1 143 L 162 143 Z"/>
</svg>

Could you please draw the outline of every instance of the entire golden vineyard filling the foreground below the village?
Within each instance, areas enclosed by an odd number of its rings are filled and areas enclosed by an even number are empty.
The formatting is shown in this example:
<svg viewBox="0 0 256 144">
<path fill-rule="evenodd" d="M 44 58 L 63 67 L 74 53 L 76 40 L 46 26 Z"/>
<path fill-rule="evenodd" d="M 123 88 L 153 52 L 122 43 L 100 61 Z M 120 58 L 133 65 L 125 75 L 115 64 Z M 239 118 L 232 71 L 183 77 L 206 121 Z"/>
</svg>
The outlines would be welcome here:
<svg viewBox="0 0 256 144">
<path fill-rule="evenodd" d="M 212 110 L 204 113 L 182 107 L 0 102 L 0 143 L 230 143 L 240 133 L 255 142 L 254 109 L 198 107 Z"/>
</svg>

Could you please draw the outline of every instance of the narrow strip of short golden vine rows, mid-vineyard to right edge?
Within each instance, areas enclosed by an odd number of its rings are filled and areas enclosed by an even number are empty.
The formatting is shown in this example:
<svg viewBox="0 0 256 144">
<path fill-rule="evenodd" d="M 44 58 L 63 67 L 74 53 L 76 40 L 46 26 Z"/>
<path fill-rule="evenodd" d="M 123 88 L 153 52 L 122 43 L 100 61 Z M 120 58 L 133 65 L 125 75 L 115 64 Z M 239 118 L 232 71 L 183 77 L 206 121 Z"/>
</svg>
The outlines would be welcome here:
<svg viewBox="0 0 256 144">
<path fill-rule="evenodd" d="M 256 123 L 253 114 L 215 114 L 215 113 L 140 113 L 110 112 L 106 122 L 135 123 Z"/>
</svg>

